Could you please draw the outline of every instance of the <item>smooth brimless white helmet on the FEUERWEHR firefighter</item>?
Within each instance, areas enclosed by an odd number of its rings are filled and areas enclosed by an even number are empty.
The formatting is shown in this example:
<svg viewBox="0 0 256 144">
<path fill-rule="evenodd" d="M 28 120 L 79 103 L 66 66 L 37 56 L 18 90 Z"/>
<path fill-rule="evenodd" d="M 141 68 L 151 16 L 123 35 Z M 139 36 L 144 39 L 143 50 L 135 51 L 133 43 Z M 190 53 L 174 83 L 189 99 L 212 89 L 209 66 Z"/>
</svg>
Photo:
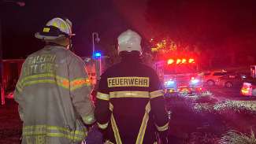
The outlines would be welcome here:
<svg viewBox="0 0 256 144">
<path fill-rule="evenodd" d="M 139 51 L 139 53 L 142 54 L 142 49 L 140 46 L 141 37 L 135 31 L 130 29 L 124 31 L 118 36 L 117 40 L 118 54 L 120 54 L 121 51 L 132 52 L 133 50 Z"/>
</svg>

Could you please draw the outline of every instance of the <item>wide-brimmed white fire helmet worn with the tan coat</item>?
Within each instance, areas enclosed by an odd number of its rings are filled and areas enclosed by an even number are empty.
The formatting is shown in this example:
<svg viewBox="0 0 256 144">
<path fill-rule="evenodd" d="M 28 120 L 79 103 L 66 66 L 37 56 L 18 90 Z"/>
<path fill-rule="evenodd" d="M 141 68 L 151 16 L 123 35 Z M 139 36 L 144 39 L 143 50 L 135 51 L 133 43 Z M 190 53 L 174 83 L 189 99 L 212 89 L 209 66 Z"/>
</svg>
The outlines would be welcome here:
<svg viewBox="0 0 256 144">
<path fill-rule="evenodd" d="M 73 35 L 75 34 L 72 34 L 72 22 L 69 19 L 63 20 L 55 17 L 49 20 L 43 29 L 35 33 L 35 38 L 53 40 L 63 36 L 70 37 Z"/>
</svg>

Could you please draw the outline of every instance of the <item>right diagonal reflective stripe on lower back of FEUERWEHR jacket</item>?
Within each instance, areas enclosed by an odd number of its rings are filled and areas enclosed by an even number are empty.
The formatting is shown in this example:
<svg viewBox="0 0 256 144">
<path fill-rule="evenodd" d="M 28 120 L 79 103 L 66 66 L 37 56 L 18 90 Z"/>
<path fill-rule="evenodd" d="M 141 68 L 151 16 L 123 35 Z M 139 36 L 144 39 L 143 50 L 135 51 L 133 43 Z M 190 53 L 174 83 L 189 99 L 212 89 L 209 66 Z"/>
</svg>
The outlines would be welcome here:
<svg viewBox="0 0 256 144">
<path fill-rule="evenodd" d="M 147 121 L 149 120 L 149 113 L 150 113 L 150 102 L 147 102 L 146 105 L 146 109 L 145 109 L 145 114 L 143 116 L 143 122 L 139 128 L 139 134 L 138 137 L 136 139 L 136 143 L 135 144 L 142 144 L 143 143 L 143 138 L 145 135 L 145 131 L 147 128 Z"/>
</svg>

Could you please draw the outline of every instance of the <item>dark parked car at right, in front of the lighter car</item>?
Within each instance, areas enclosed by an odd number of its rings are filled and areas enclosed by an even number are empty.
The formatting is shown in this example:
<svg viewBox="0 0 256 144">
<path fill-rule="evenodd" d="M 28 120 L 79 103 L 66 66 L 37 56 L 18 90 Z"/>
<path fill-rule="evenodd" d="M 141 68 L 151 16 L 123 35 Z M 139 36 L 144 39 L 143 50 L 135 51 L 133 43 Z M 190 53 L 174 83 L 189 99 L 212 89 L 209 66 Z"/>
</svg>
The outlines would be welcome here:
<svg viewBox="0 0 256 144">
<path fill-rule="evenodd" d="M 243 73 L 232 73 L 228 74 L 227 76 L 221 76 L 217 79 L 216 85 L 220 87 L 242 87 L 243 82 L 245 82 L 247 79 L 252 79 L 251 76 L 248 76 L 247 74 Z"/>
</svg>

